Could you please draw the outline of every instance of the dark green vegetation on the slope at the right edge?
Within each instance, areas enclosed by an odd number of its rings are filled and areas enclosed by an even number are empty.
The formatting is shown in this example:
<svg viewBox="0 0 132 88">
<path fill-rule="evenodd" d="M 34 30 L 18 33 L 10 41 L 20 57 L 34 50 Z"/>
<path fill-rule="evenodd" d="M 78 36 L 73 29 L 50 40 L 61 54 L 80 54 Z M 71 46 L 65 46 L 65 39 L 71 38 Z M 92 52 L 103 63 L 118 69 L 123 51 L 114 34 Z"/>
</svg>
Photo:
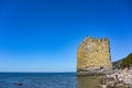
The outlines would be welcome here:
<svg viewBox="0 0 132 88">
<path fill-rule="evenodd" d="M 132 67 L 132 53 L 129 54 L 129 56 L 127 56 L 125 58 L 123 58 L 120 68 L 124 68 L 125 66 Z"/>
</svg>

